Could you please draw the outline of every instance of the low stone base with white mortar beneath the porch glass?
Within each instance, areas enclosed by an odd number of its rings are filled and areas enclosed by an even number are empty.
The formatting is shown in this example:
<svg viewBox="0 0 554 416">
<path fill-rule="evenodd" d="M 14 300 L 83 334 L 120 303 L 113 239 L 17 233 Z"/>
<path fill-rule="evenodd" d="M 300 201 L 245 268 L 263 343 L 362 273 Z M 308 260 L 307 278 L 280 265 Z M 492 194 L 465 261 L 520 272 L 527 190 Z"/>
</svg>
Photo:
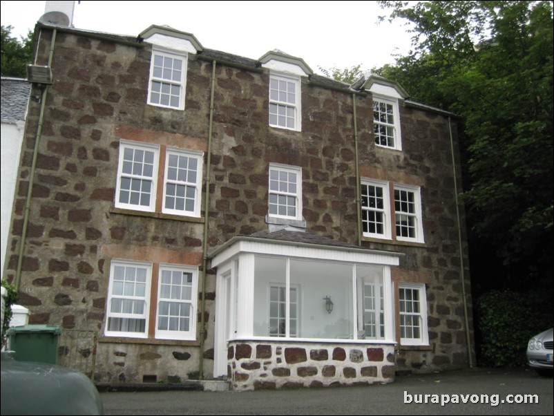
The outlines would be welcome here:
<svg viewBox="0 0 554 416">
<path fill-rule="evenodd" d="M 231 341 L 227 359 L 233 390 L 394 381 L 392 345 Z"/>
</svg>

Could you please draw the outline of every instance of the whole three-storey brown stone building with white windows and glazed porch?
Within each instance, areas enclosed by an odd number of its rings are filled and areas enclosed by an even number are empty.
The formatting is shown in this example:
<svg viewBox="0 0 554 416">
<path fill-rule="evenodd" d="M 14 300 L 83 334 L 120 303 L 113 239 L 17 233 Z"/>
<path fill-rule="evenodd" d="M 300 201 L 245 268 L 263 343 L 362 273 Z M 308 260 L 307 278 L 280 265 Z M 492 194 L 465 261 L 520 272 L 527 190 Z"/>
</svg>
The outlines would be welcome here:
<svg viewBox="0 0 554 416">
<path fill-rule="evenodd" d="M 46 79 L 30 77 L 4 272 L 30 323 L 98 332 L 97 381 L 467 366 L 455 117 L 376 75 L 343 84 L 169 27 L 35 39 Z"/>
</svg>

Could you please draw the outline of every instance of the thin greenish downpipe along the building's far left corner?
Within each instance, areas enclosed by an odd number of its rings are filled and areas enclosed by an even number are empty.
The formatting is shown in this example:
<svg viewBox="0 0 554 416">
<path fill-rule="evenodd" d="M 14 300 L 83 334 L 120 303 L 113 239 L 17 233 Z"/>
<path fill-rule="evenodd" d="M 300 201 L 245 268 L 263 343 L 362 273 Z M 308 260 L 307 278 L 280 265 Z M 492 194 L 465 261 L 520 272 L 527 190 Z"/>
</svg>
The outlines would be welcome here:
<svg viewBox="0 0 554 416">
<path fill-rule="evenodd" d="M 48 54 L 48 66 L 50 68 L 52 67 L 52 58 L 54 57 L 54 45 L 56 43 L 56 35 L 57 35 L 57 28 L 53 28 L 52 40 L 50 41 L 50 53 Z M 39 35 L 39 40 L 37 41 L 37 48 L 38 48 L 39 41 L 40 41 L 40 35 Z M 35 62 L 36 62 L 36 55 L 35 55 Z M 39 88 L 39 87 L 35 86 L 35 88 Z M 41 90 L 41 97 L 40 97 L 41 107 L 40 107 L 40 115 L 39 115 L 39 125 L 37 128 L 37 135 L 35 136 L 35 149 L 32 152 L 32 163 L 31 163 L 31 170 L 29 173 L 29 185 L 27 188 L 27 197 L 25 200 L 25 211 L 23 213 L 23 229 L 21 230 L 21 241 L 19 242 L 19 256 L 17 258 L 17 268 L 15 270 L 14 285 L 15 285 L 15 290 L 17 292 L 19 292 L 19 286 L 21 285 L 21 270 L 23 269 L 23 252 L 25 251 L 27 229 L 29 226 L 32 187 L 33 187 L 33 181 L 35 180 L 35 171 L 37 170 L 37 158 L 39 155 L 39 145 L 42 137 L 42 126 L 44 124 L 44 111 L 46 108 L 46 97 L 48 97 L 48 84 L 44 84 L 44 90 Z"/>
</svg>

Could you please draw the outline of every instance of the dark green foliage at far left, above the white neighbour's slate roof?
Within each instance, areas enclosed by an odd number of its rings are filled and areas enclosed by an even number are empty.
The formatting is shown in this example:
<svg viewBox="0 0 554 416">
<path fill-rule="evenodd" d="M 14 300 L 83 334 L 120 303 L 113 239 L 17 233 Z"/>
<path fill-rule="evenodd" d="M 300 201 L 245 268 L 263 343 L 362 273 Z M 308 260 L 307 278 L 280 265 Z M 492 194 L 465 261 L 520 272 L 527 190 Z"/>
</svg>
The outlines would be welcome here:
<svg viewBox="0 0 554 416">
<path fill-rule="evenodd" d="M 11 37 L 13 27 L 1 26 L 1 74 L 3 77 L 27 76 L 27 64 L 31 62 L 32 32 L 18 41 Z"/>
</svg>

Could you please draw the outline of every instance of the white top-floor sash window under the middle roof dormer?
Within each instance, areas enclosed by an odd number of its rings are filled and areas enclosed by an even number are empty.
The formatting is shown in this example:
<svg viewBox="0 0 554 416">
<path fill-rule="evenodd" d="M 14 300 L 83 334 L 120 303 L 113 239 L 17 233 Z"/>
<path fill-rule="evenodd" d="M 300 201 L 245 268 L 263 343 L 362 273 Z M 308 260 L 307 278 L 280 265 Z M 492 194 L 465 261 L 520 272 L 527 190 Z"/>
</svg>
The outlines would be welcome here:
<svg viewBox="0 0 554 416">
<path fill-rule="evenodd" d="M 278 84 L 278 88 L 274 88 L 275 83 Z M 294 86 L 294 102 L 291 102 L 289 100 L 288 94 L 281 90 L 279 86 L 283 85 L 283 83 L 287 83 L 287 91 L 288 87 L 290 85 Z M 282 94 L 285 94 L 285 100 L 283 100 L 283 96 L 280 96 Z M 287 130 L 293 130 L 293 131 L 301 131 L 302 130 L 302 106 L 301 106 L 301 91 L 300 91 L 300 77 L 295 77 L 293 75 L 283 75 L 280 73 L 271 73 L 269 75 L 269 126 L 271 127 L 277 127 L 278 129 L 287 129 Z M 280 123 L 280 117 L 283 117 L 283 115 L 279 115 L 279 111 L 276 113 L 277 117 L 276 119 L 272 120 L 272 109 L 277 106 L 278 108 L 285 108 L 285 111 L 287 109 L 290 109 L 292 111 L 293 115 L 285 115 L 285 125 Z M 288 112 L 288 111 L 287 111 Z M 287 118 L 292 118 L 294 120 L 294 126 L 288 126 L 286 120 Z"/>
</svg>

